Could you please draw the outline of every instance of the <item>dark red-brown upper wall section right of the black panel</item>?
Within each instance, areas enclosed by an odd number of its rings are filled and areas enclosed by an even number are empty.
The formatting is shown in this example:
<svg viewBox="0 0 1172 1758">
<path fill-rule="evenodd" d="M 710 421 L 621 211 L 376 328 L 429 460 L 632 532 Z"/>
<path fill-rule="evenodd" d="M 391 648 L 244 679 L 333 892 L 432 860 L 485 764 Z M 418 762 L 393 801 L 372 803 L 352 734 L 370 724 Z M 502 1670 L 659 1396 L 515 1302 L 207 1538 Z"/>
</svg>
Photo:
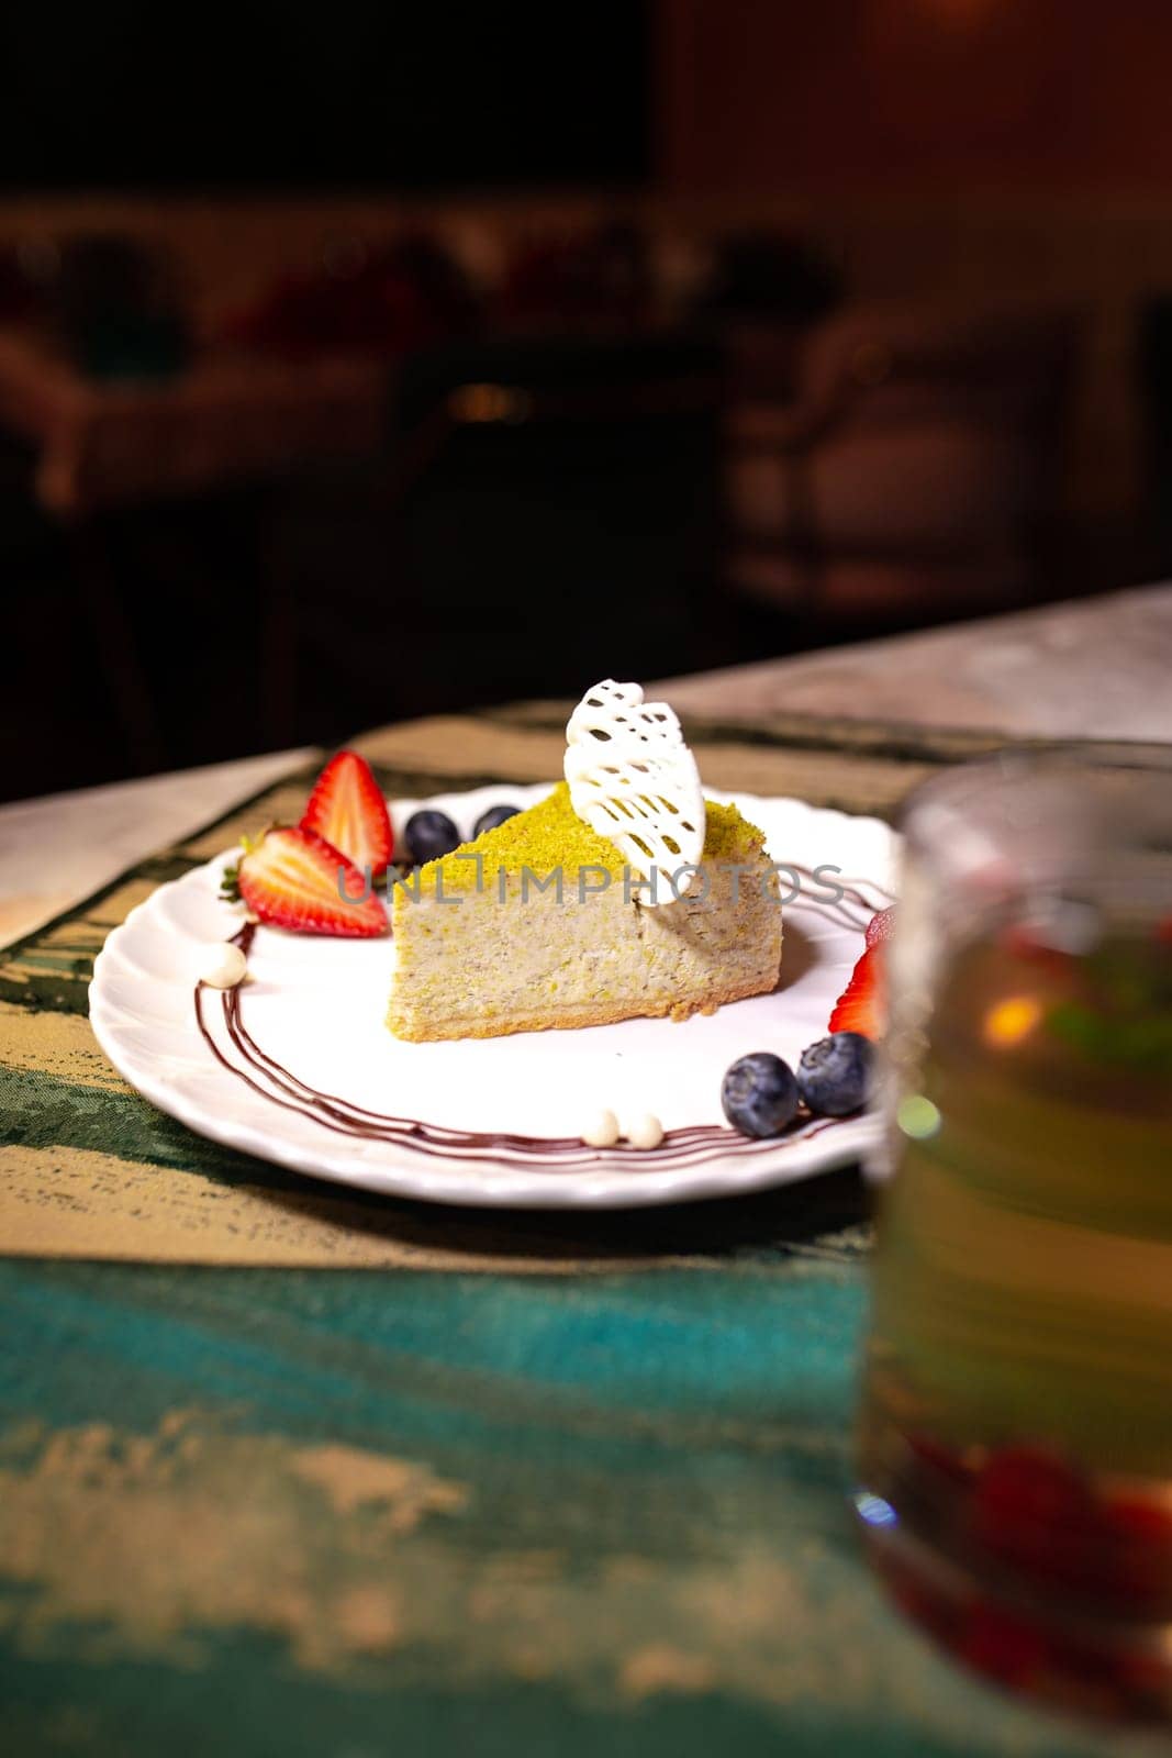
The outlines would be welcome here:
<svg viewBox="0 0 1172 1758">
<path fill-rule="evenodd" d="M 1172 190 L 1168 0 L 661 0 L 668 190 Z"/>
</svg>

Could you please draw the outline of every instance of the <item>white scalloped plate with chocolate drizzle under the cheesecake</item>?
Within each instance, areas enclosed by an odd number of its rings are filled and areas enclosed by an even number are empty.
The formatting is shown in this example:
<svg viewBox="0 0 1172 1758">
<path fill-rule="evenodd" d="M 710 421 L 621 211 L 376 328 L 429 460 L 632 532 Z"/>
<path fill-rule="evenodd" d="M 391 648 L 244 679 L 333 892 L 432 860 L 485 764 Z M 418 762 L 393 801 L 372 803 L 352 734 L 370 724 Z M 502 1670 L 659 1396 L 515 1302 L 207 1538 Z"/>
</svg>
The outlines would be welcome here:
<svg viewBox="0 0 1172 1758">
<path fill-rule="evenodd" d="M 546 786 L 478 788 L 392 805 L 395 832 L 420 805 L 464 833 L 504 800 L 532 805 Z M 796 1065 L 826 1034 L 863 951 L 870 914 L 891 902 L 898 839 L 879 819 L 799 800 L 733 798 L 775 861 L 838 868 L 831 904 L 803 879 L 785 907 L 782 981 L 771 995 L 685 1023 L 627 1020 L 576 1032 L 402 1044 L 383 1025 L 394 942 L 257 928 L 250 977 L 197 990 L 209 941 L 242 911 L 216 897 L 227 853 L 163 884 L 109 935 L 90 984 L 90 1020 L 114 1067 L 190 1129 L 299 1173 L 432 1202 L 627 1208 L 787 1183 L 857 1159 L 877 1120 L 794 1123 L 750 1141 L 720 1113 L 736 1057 L 773 1050 Z M 782 874 L 782 886 L 787 877 Z M 578 1130 L 608 1108 L 654 1111 L 661 1148 L 585 1148 Z"/>
</svg>

